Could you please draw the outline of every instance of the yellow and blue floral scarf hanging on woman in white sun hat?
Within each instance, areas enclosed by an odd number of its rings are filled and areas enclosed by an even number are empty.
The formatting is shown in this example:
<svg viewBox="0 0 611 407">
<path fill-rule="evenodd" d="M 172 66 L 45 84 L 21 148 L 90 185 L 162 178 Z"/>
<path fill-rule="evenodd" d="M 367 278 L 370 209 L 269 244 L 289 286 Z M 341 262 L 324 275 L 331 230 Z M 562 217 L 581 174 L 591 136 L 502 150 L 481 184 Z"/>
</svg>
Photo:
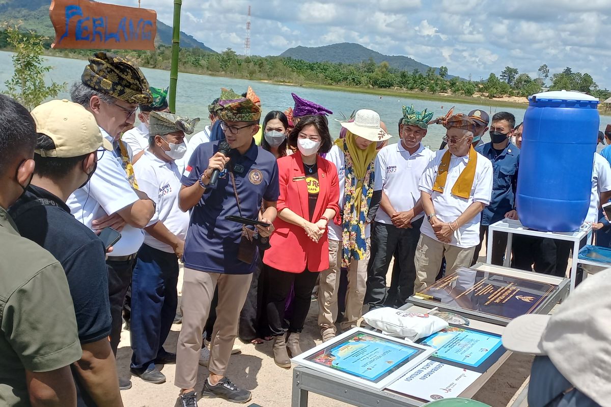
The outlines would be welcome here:
<svg viewBox="0 0 611 407">
<path fill-rule="evenodd" d="M 365 226 L 375 178 L 376 143 L 360 150 L 354 145 L 354 138 L 352 134 L 348 134 L 348 137 L 342 140 L 345 156 L 344 205 L 339 223 L 342 226 L 342 267 L 348 267 L 353 259 L 365 259 Z M 354 159 L 353 154 L 356 154 Z"/>
</svg>

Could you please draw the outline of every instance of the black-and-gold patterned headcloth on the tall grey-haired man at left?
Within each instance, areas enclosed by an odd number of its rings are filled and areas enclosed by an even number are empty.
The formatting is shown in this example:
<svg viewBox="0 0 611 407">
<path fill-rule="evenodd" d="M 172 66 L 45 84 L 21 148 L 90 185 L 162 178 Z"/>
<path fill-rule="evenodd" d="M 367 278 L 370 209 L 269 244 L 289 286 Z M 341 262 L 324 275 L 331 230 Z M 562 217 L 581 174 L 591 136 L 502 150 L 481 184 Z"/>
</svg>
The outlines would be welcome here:
<svg viewBox="0 0 611 407">
<path fill-rule="evenodd" d="M 152 104 L 153 96 L 140 68 L 129 60 L 107 52 L 89 57 L 81 75 L 83 84 L 127 103 Z"/>
</svg>

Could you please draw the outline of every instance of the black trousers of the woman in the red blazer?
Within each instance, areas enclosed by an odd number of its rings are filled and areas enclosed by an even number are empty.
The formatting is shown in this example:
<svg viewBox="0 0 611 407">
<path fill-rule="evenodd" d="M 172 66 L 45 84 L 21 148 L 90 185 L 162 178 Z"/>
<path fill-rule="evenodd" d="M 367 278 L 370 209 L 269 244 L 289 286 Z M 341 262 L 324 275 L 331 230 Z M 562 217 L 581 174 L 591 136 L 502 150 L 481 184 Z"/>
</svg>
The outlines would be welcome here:
<svg viewBox="0 0 611 407">
<path fill-rule="evenodd" d="M 269 332 L 274 336 L 284 334 L 282 322 L 291 286 L 295 286 L 295 299 L 293 300 L 293 315 L 288 322 L 289 333 L 301 333 L 305 318 L 310 311 L 312 303 L 312 290 L 316 285 L 319 273 L 305 270 L 302 273 L 287 273 L 276 268 L 268 268 L 268 300 L 266 305 Z"/>
</svg>

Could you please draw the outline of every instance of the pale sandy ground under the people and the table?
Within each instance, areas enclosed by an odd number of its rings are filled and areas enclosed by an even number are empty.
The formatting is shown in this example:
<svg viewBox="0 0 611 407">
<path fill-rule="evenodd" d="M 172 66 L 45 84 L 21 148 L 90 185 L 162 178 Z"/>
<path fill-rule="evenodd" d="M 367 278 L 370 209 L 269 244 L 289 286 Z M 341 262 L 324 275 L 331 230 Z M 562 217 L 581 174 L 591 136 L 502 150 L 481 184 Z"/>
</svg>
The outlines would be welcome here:
<svg viewBox="0 0 611 407">
<path fill-rule="evenodd" d="M 485 250 L 482 250 L 484 254 Z M 485 260 L 485 258 L 480 258 Z M 389 268 L 392 270 L 392 266 Z M 390 278 L 387 279 L 390 281 Z M 178 283 L 179 295 L 181 280 Z M 305 321 L 305 328 L 301 335 L 301 347 L 309 349 L 321 343 L 320 332 L 316 326 L 318 315 L 318 304 L 314 301 L 310 307 L 310 313 Z M 178 332 L 180 325 L 173 325 L 172 331 L 166 341 L 165 348 L 168 351 L 176 350 Z M 293 370 L 282 369 L 274 364 L 271 350 L 272 342 L 262 345 L 241 344 L 241 353 L 232 355 L 230 359 L 227 376 L 238 386 L 252 391 L 252 401 L 245 406 L 255 403 L 262 407 L 284 407 L 291 405 L 291 391 L 293 381 Z M 131 358 L 130 333 L 123 331 L 122 340 L 117 353 L 117 366 L 119 375 L 128 377 Z M 492 376 L 491 380 L 478 392 L 474 399 L 484 402 L 492 407 L 505 407 L 514 393 L 524 382 L 530 372 L 529 356 L 512 355 L 503 364 L 501 369 Z M 167 365 L 161 368 L 166 375 L 167 381 L 163 384 L 151 384 L 142 381 L 136 376 L 131 377 L 133 386 L 130 390 L 122 391 L 125 407 L 169 407 L 179 406 L 178 388 L 174 386 L 175 366 Z M 208 370 L 200 366 L 196 391 L 199 393 L 203 381 L 207 378 Z M 225 402 L 220 399 L 200 399 L 198 406 L 235 406 L 235 403 Z M 339 407 L 347 406 L 345 403 L 337 402 L 330 398 L 311 394 L 309 405 L 316 407 Z"/>
</svg>

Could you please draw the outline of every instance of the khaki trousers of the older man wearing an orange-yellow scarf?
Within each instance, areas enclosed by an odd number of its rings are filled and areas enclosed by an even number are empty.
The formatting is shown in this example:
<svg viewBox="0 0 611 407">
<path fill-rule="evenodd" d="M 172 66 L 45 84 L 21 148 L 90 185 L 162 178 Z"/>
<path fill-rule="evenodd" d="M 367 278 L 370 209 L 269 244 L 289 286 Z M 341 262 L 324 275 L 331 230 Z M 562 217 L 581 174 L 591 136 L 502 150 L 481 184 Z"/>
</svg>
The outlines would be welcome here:
<svg viewBox="0 0 611 407">
<path fill-rule="evenodd" d="M 448 245 L 421 233 L 415 256 L 415 292 L 422 292 L 423 289 L 435 282 L 435 277 L 439 274 L 441 261 L 444 257 L 445 273 L 449 274 L 455 272 L 459 267 L 470 267 L 474 251 L 475 246 L 461 248 Z"/>
</svg>

